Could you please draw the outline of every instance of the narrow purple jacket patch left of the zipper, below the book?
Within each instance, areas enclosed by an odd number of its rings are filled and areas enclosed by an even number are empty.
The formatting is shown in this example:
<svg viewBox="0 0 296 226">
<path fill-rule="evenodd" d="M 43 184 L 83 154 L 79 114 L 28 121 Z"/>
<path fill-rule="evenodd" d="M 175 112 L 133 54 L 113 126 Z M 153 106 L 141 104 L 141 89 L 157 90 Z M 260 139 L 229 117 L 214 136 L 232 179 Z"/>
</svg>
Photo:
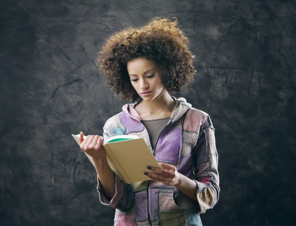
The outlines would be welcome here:
<svg viewBox="0 0 296 226">
<path fill-rule="evenodd" d="M 135 205 L 136 205 L 136 208 L 135 208 L 136 221 L 146 220 L 148 218 L 147 193 L 146 192 L 136 193 L 134 198 L 135 198 Z"/>
</svg>

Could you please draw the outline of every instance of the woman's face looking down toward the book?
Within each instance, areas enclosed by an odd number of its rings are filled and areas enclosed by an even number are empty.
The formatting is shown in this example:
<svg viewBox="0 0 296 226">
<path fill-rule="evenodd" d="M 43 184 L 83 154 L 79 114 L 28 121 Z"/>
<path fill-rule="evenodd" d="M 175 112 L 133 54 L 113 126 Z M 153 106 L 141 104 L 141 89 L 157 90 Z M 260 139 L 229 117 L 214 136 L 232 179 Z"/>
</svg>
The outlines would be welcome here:
<svg viewBox="0 0 296 226">
<path fill-rule="evenodd" d="M 146 58 L 131 60 L 127 63 L 127 71 L 134 89 L 143 100 L 153 100 L 166 91 L 154 61 Z"/>
</svg>

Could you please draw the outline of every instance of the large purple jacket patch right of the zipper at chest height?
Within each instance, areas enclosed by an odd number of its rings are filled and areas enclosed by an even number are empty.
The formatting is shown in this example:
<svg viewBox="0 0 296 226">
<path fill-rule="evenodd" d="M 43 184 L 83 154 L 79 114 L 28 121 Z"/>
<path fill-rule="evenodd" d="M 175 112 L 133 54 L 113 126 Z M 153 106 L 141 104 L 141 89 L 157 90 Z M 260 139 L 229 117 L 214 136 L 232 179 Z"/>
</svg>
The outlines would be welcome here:
<svg viewBox="0 0 296 226">
<path fill-rule="evenodd" d="M 155 150 L 157 161 L 177 163 L 181 149 L 181 132 L 179 128 L 166 128 L 160 134 Z"/>
</svg>

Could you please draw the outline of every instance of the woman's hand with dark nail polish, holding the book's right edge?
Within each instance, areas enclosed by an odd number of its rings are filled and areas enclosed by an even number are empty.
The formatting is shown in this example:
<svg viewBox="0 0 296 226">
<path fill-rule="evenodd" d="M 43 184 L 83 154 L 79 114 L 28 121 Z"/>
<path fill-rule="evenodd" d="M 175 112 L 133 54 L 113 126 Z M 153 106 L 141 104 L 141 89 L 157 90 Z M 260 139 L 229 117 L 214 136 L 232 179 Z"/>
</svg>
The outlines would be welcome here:
<svg viewBox="0 0 296 226">
<path fill-rule="evenodd" d="M 159 162 L 161 169 L 151 167 L 147 167 L 149 170 L 155 172 L 145 172 L 144 174 L 150 177 L 152 180 L 162 182 L 167 186 L 177 186 L 180 184 L 180 173 L 177 171 L 176 167 L 171 164 Z"/>
</svg>

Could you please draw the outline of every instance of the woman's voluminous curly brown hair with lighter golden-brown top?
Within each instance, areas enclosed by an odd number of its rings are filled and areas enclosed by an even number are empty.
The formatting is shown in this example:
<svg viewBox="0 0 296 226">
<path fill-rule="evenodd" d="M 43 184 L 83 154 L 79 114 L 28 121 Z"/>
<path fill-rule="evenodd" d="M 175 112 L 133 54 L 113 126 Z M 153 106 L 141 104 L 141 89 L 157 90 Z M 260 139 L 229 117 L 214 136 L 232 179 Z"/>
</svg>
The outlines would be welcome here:
<svg viewBox="0 0 296 226">
<path fill-rule="evenodd" d="M 127 62 L 141 57 L 159 66 L 167 91 L 183 91 L 192 84 L 196 72 L 188 43 L 176 18 L 154 17 L 144 26 L 113 33 L 95 63 L 101 68 L 106 86 L 123 99 L 139 98 L 130 82 Z"/>
</svg>

